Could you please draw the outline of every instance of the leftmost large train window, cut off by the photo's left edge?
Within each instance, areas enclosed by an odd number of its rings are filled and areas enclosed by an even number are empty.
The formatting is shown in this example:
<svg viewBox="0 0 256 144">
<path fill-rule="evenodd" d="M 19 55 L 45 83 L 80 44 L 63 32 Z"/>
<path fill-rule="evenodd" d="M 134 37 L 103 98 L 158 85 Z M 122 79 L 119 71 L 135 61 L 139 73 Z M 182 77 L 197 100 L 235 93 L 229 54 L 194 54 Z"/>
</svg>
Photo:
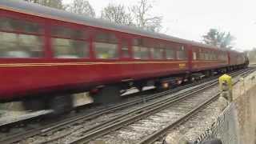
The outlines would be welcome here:
<svg viewBox="0 0 256 144">
<path fill-rule="evenodd" d="M 42 27 L 36 22 L 0 18 L 0 57 L 42 58 L 42 31 Z"/>
</svg>

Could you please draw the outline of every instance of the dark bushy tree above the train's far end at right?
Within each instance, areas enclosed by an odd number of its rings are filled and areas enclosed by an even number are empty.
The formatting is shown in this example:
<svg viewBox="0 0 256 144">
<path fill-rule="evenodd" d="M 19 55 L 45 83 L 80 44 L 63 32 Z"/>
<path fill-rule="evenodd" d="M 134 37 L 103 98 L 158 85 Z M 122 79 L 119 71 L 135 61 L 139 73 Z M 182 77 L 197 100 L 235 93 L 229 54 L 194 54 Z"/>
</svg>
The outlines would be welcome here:
<svg viewBox="0 0 256 144">
<path fill-rule="evenodd" d="M 203 42 L 220 48 L 232 49 L 232 41 L 234 37 L 229 33 L 220 32 L 216 29 L 210 29 L 206 35 L 202 36 Z"/>
</svg>

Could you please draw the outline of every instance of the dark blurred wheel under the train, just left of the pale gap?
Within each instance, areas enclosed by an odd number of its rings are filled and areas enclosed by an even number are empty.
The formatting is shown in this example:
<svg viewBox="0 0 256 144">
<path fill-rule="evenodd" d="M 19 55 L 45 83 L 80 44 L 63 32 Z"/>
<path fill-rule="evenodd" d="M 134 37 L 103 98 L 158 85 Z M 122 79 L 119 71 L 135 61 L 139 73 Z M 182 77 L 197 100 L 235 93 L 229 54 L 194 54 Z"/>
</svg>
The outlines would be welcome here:
<svg viewBox="0 0 256 144">
<path fill-rule="evenodd" d="M 58 95 L 50 99 L 49 109 L 54 110 L 53 115 L 69 113 L 73 108 L 73 99 L 71 95 Z"/>
</svg>

